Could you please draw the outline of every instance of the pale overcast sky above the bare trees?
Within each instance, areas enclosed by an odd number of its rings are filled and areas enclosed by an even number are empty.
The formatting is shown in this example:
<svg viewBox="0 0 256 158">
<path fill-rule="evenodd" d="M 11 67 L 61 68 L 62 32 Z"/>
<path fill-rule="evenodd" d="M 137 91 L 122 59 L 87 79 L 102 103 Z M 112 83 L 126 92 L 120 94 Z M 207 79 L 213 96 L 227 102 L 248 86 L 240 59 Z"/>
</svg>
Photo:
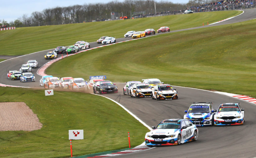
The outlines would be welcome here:
<svg viewBox="0 0 256 158">
<path fill-rule="evenodd" d="M 34 11 L 43 11 L 46 8 L 67 7 L 72 5 L 83 5 L 85 3 L 107 3 L 113 0 L 3 0 L 0 4 L 0 20 L 8 23 L 21 17 L 23 14 L 31 16 Z M 122 0 L 118 0 L 122 2 Z M 161 0 L 156 0 L 160 2 Z M 189 0 L 163 0 L 173 3 L 187 3 Z"/>
</svg>

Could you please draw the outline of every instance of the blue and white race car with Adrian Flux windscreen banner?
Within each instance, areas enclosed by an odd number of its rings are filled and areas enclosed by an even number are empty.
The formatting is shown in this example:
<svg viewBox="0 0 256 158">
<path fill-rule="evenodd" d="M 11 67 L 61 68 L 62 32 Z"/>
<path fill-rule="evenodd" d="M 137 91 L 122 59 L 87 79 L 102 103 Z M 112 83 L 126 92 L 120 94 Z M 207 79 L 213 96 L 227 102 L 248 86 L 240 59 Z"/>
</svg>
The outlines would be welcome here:
<svg viewBox="0 0 256 158">
<path fill-rule="evenodd" d="M 194 102 L 188 111 L 184 111 L 186 113 L 184 119 L 191 121 L 196 126 L 212 126 L 216 110 L 210 103 L 213 102 Z"/>
</svg>

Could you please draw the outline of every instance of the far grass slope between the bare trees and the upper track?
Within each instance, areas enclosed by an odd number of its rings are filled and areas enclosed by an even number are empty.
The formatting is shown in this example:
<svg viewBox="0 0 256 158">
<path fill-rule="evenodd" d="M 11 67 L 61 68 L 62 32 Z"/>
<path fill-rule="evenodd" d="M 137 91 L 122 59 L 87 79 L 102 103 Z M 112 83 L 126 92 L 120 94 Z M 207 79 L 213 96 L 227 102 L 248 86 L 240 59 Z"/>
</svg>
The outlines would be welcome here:
<svg viewBox="0 0 256 158">
<path fill-rule="evenodd" d="M 114 20 L 79 24 L 51 25 L 16 28 L 0 32 L 0 55 L 24 55 L 56 46 L 73 45 L 76 41 L 95 42 L 101 36 L 124 37 L 127 31 L 144 31 L 161 26 L 170 26 L 171 30 L 202 26 L 236 16 L 241 11 L 215 11 L 187 15 L 168 15 L 160 17 Z M 20 48 L 10 49 L 13 45 Z"/>
</svg>

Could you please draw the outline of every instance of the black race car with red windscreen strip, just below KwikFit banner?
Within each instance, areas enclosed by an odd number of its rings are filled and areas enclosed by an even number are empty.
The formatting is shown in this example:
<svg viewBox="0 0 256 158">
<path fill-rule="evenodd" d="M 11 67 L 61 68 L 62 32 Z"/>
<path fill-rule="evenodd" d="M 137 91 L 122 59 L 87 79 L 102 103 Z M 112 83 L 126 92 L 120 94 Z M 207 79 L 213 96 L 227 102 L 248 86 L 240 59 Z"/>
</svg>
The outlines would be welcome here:
<svg viewBox="0 0 256 158">
<path fill-rule="evenodd" d="M 111 81 L 97 81 L 96 84 L 93 86 L 93 93 L 118 93 L 118 88 Z"/>
</svg>

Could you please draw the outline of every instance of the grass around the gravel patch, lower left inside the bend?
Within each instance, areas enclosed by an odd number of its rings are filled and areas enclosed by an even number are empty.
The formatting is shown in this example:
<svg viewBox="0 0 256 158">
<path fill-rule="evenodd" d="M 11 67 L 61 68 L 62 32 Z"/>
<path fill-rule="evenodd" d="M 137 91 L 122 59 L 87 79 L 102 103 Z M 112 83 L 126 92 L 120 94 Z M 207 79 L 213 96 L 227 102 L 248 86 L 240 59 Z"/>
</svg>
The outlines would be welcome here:
<svg viewBox="0 0 256 158">
<path fill-rule="evenodd" d="M 1 157 L 70 157 L 69 129 L 83 129 L 84 139 L 73 140 L 73 156 L 137 146 L 149 130 L 114 102 L 79 92 L 0 87 L 2 102 L 25 102 L 43 128 L 35 131 L 1 131 Z M 7 107 L 8 108 L 8 107 Z M 15 118 L 14 118 L 15 119 Z"/>
</svg>

